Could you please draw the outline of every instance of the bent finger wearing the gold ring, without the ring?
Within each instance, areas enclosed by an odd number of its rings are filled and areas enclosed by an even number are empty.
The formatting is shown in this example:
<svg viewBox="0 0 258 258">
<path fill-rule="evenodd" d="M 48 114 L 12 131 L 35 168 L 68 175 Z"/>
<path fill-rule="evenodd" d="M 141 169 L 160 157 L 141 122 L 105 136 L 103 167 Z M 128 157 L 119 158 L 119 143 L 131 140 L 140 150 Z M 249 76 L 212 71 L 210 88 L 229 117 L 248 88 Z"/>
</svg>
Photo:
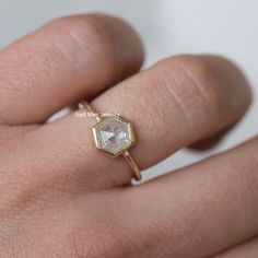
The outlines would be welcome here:
<svg viewBox="0 0 258 258">
<path fill-rule="evenodd" d="M 221 62 L 219 71 L 213 62 Z M 133 121 L 138 143 L 131 153 L 143 169 L 235 122 L 249 99 L 248 84 L 232 63 L 219 57 L 184 56 L 160 62 L 108 90 L 93 106 L 98 112 L 120 113 Z M 33 178 L 51 178 L 51 183 L 63 178 L 62 187 L 128 184 L 132 173 L 124 159 L 110 159 L 95 149 L 94 125 L 93 118 L 72 114 L 40 127 L 27 134 L 26 148 L 24 142 L 20 145 L 25 151 L 17 160 L 30 167 L 27 174 L 33 173 Z M 26 156 L 33 156 L 30 164 Z M 48 167 L 47 172 L 43 167 Z M 12 169 L 17 169 L 15 164 Z"/>
</svg>

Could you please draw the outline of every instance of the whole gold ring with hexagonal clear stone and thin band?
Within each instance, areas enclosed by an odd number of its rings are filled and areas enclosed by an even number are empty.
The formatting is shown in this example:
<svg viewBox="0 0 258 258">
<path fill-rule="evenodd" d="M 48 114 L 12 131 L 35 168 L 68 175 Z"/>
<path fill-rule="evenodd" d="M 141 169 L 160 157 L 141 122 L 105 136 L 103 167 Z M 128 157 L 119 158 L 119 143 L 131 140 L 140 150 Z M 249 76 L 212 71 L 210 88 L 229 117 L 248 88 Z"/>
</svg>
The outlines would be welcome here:
<svg viewBox="0 0 258 258">
<path fill-rule="evenodd" d="M 120 115 L 103 117 L 86 101 L 82 101 L 81 105 L 97 120 L 92 128 L 96 148 L 113 157 L 122 155 L 131 166 L 134 179 L 140 180 L 141 172 L 129 152 L 137 143 L 132 122 Z"/>
</svg>

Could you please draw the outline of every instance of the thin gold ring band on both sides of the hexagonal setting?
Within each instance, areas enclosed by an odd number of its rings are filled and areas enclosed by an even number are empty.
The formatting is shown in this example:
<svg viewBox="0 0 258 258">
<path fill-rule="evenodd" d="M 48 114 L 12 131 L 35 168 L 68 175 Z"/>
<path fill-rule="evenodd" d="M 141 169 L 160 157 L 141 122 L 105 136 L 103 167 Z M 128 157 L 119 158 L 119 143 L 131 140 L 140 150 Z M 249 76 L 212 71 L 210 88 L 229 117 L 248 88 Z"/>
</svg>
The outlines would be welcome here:
<svg viewBox="0 0 258 258">
<path fill-rule="evenodd" d="M 82 101 L 81 102 L 82 106 L 90 113 L 94 114 L 94 117 L 96 118 L 96 120 L 99 122 L 102 121 L 102 117 L 99 115 L 97 115 L 94 110 L 94 108 L 86 102 L 86 101 Z M 131 156 L 131 154 L 129 153 L 128 150 L 126 150 L 122 153 L 122 156 L 125 157 L 125 160 L 127 161 L 127 163 L 130 165 L 130 167 L 133 171 L 133 177 L 137 180 L 141 180 L 141 172 L 137 165 L 137 163 L 134 162 L 133 157 Z"/>
</svg>

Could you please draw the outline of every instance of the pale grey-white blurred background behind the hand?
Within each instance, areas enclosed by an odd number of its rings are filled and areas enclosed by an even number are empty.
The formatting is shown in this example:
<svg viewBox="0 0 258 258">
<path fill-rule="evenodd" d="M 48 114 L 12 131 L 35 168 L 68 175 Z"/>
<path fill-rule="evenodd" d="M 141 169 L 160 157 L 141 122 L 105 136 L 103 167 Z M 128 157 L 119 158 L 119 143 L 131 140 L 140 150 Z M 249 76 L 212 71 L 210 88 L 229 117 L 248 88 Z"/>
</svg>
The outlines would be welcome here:
<svg viewBox="0 0 258 258">
<path fill-rule="evenodd" d="M 257 95 L 257 10 L 256 0 L 0 0 L 0 47 L 57 16 L 108 12 L 126 19 L 138 30 L 146 47 L 145 66 L 183 52 L 221 54 L 245 70 Z M 207 155 L 254 137 L 258 132 L 257 114 L 258 103 L 255 103 L 248 116 Z M 203 153 L 180 151 L 150 169 L 145 178 L 203 156 Z"/>
</svg>

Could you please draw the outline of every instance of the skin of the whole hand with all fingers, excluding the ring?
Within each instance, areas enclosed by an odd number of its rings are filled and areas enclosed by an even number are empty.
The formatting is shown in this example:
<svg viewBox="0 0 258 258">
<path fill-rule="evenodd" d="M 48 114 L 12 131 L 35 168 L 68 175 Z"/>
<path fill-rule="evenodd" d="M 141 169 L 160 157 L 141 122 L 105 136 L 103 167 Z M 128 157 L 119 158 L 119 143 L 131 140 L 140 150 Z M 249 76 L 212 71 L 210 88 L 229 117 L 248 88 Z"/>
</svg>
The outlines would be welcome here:
<svg viewBox="0 0 258 258">
<path fill-rule="evenodd" d="M 56 20 L 1 51 L 1 258 L 258 257 L 258 138 L 132 187 L 126 162 L 95 150 L 93 118 L 46 122 L 82 98 L 119 112 L 134 122 L 143 169 L 211 146 L 250 104 L 224 58 L 140 72 L 142 61 L 132 28 L 99 14 Z"/>
</svg>

